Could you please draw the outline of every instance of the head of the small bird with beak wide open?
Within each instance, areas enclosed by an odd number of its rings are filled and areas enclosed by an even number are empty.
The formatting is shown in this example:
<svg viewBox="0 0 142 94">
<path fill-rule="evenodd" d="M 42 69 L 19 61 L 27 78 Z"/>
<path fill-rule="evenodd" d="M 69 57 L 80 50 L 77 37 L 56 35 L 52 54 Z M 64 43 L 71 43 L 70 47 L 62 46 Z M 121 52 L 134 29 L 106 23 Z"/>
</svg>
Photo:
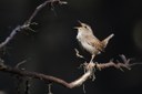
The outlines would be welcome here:
<svg viewBox="0 0 142 94">
<path fill-rule="evenodd" d="M 89 24 L 82 23 L 81 21 L 79 22 L 79 27 L 74 27 L 74 29 L 78 29 L 79 32 L 92 32 L 92 29 Z"/>
</svg>

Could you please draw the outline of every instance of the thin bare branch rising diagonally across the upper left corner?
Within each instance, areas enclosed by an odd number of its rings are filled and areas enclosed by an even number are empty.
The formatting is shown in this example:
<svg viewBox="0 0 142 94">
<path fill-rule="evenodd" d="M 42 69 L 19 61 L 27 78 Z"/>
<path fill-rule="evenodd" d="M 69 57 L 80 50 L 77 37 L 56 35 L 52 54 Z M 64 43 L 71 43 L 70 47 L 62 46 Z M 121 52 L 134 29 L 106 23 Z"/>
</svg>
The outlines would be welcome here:
<svg viewBox="0 0 142 94">
<path fill-rule="evenodd" d="M 40 6 L 38 6 L 38 7 L 36 8 L 36 10 L 34 10 L 33 13 L 31 14 L 31 17 L 30 17 L 23 24 L 16 27 L 16 28 L 11 31 L 10 35 L 7 36 L 3 42 L 0 43 L 0 49 L 2 49 L 3 46 L 6 46 L 6 45 L 13 39 L 13 36 L 14 36 L 18 32 L 20 32 L 20 31 L 22 31 L 22 30 L 24 30 L 24 29 L 32 30 L 32 29 L 30 29 L 30 25 L 33 24 L 33 23 L 31 23 L 31 21 L 32 21 L 33 18 L 37 15 L 37 13 L 39 13 L 39 11 L 40 11 L 41 9 L 43 9 L 48 3 L 51 3 L 51 4 L 52 4 L 53 2 L 59 2 L 59 4 L 67 4 L 65 1 L 60 1 L 60 0 L 47 0 L 47 1 L 44 1 L 43 3 L 41 3 Z"/>
</svg>

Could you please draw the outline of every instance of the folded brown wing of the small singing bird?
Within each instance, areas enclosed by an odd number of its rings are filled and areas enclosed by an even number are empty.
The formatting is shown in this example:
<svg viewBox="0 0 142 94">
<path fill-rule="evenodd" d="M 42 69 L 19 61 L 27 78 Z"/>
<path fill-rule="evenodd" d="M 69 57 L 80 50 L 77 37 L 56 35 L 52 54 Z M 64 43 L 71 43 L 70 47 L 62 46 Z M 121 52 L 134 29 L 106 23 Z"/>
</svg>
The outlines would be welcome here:
<svg viewBox="0 0 142 94">
<path fill-rule="evenodd" d="M 99 39 L 97 39 L 93 35 L 87 35 L 87 42 L 88 44 L 90 44 L 91 46 L 95 46 L 99 51 L 103 51 L 103 44 L 101 43 L 101 41 Z"/>
</svg>

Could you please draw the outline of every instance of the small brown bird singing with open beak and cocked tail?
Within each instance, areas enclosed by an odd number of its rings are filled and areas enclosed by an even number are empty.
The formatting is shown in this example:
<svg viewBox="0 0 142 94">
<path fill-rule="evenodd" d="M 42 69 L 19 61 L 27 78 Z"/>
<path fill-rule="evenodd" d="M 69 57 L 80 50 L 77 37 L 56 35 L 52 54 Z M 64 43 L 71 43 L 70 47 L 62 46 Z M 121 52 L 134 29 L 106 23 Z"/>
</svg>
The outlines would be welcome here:
<svg viewBox="0 0 142 94">
<path fill-rule="evenodd" d="M 78 29 L 77 39 L 81 43 L 84 50 L 92 54 L 90 62 L 93 61 L 94 56 L 104 51 L 108 42 L 111 38 L 113 38 L 113 33 L 109 35 L 106 39 L 100 41 L 95 35 L 93 35 L 93 31 L 90 25 L 80 22 L 80 27 L 75 27 Z"/>
</svg>

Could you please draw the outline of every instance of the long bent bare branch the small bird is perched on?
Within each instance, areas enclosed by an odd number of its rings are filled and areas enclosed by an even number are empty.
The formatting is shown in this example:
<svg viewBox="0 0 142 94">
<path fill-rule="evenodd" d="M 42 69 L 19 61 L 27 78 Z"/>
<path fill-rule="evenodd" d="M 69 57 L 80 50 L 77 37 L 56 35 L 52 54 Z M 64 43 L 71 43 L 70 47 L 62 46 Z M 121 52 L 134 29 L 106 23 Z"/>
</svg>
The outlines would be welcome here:
<svg viewBox="0 0 142 94">
<path fill-rule="evenodd" d="M 122 67 L 130 70 L 132 66 L 130 64 L 130 60 L 129 59 L 126 60 L 126 58 L 124 55 L 121 55 L 121 58 L 123 60 L 123 63 L 119 62 L 115 64 L 113 61 L 110 61 L 108 63 L 100 63 L 100 64 L 93 63 L 93 62 L 84 63 L 83 65 L 84 65 L 84 69 L 87 70 L 85 73 L 82 76 L 80 76 L 79 79 L 72 81 L 71 83 L 68 83 L 62 79 L 58 79 L 58 77 L 54 77 L 51 75 L 45 75 L 45 74 L 37 73 L 37 72 L 29 72 L 29 71 L 24 71 L 24 70 L 19 70 L 18 67 L 11 67 L 11 66 L 4 65 L 3 63 L 0 63 L 0 71 L 6 72 L 6 73 L 11 73 L 11 74 L 17 74 L 19 76 L 38 79 L 38 80 L 41 80 L 44 82 L 53 82 L 53 83 L 63 85 L 68 88 L 73 88 L 73 87 L 82 85 L 87 80 L 91 79 L 93 76 L 95 69 L 99 69 L 99 71 L 101 71 L 103 69 L 113 66 L 113 67 L 116 67 L 120 70 Z"/>
</svg>

